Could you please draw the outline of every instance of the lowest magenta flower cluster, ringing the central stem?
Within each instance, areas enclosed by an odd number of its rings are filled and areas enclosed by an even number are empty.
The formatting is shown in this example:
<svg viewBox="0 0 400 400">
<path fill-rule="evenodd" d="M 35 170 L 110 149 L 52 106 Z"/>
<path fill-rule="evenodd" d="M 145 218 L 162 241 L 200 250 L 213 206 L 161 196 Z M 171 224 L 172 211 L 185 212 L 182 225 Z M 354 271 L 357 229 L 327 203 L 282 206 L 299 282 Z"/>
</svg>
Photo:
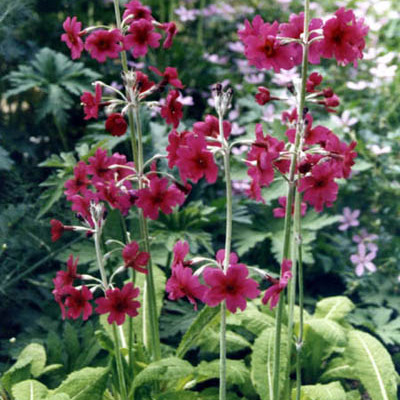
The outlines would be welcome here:
<svg viewBox="0 0 400 400">
<path fill-rule="evenodd" d="M 207 267 L 203 271 L 204 283 L 193 274 L 192 261 L 185 260 L 189 253 L 187 242 L 178 242 L 174 246 L 174 260 L 172 262 L 171 277 L 167 281 L 166 291 L 170 300 L 178 300 L 186 297 L 197 309 L 199 300 L 210 307 L 216 307 L 222 301 L 226 301 L 227 309 L 235 313 L 237 309 L 244 311 L 247 299 L 255 299 L 260 295 L 258 283 L 248 277 L 249 271 L 245 264 L 238 261 L 235 253 L 229 257 L 229 265 L 226 271 L 223 269 L 225 250 L 219 250 L 216 254 L 218 267 Z M 263 303 L 271 300 L 270 307 L 274 308 L 279 300 L 280 292 L 287 286 L 291 278 L 291 261 L 282 263 L 281 279 L 276 280 L 267 276 L 273 285 L 267 289 L 263 297 Z"/>
</svg>

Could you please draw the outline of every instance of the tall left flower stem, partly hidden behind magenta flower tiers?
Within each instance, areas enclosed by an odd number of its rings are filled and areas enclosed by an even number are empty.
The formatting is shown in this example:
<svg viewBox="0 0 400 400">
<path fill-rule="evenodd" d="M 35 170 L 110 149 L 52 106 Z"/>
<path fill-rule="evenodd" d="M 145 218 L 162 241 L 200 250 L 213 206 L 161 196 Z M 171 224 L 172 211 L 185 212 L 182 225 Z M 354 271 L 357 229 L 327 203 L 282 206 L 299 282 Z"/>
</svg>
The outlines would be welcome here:
<svg viewBox="0 0 400 400">
<path fill-rule="evenodd" d="M 162 2 L 163 3 L 163 2 Z M 117 28 L 121 29 L 121 13 L 119 8 L 118 0 L 114 0 L 114 10 L 115 10 L 115 19 L 117 23 Z M 122 69 L 125 73 L 128 72 L 128 62 L 126 52 L 121 52 L 121 63 Z M 133 100 L 133 99 L 131 99 Z M 139 108 L 138 106 L 134 108 L 135 113 L 132 110 L 132 107 L 128 108 L 128 120 L 130 127 L 130 139 L 131 139 L 131 147 L 132 147 L 132 155 L 133 161 L 135 163 L 136 170 L 138 174 L 141 176 L 143 173 L 143 144 L 142 144 L 142 132 L 139 118 Z M 135 125 L 137 131 L 135 131 Z M 142 182 L 139 180 L 139 188 L 142 188 Z M 139 228 L 140 228 L 140 236 L 144 243 L 145 251 L 150 251 L 149 244 L 149 235 L 148 235 L 148 227 L 147 221 L 143 216 L 141 210 L 139 210 Z M 148 264 L 148 274 L 146 275 L 146 283 L 144 288 L 143 295 L 143 308 L 144 315 L 149 315 L 149 324 L 150 324 L 150 343 L 147 341 L 147 323 L 146 320 L 143 319 L 144 326 L 144 342 L 147 348 L 151 347 L 151 354 L 153 356 L 153 360 L 161 359 L 161 347 L 160 347 L 160 337 L 158 331 L 158 320 L 157 320 L 157 310 L 156 310 L 156 296 L 154 289 L 154 276 L 153 276 L 153 268 L 151 259 Z M 130 344 L 130 347 L 132 345 Z"/>
</svg>

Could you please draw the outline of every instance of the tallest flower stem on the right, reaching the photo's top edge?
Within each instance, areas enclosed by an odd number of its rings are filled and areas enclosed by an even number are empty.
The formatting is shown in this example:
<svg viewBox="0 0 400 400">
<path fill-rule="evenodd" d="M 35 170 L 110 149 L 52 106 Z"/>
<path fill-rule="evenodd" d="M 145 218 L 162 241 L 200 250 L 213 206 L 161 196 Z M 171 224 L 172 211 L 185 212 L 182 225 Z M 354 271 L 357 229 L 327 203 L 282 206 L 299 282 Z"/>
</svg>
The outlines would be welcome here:
<svg viewBox="0 0 400 400">
<path fill-rule="evenodd" d="M 309 0 L 304 1 L 304 30 L 303 30 L 303 58 L 301 67 L 301 86 L 298 93 L 297 101 L 297 124 L 296 124 L 296 137 L 294 143 L 294 151 L 292 154 L 289 170 L 289 182 L 288 182 L 288 195 L 286 203 L 285 213 L 285 225 L 284 225 L 284 241 L 283 241 L 283 258 L 288 259 L 290 256 L 290 239 L 291 239 L 291 227 L 292 227 L 292 205 L 294 200 L 294 194 L 296 190 L 295 185 L 295 174 L 296 165 L 298 159 L 298 153 L 300 148 L 301 135 L 304 132 L 304 120 L 303 110 L 306 98 L 306 82 L 307 82 L 307 69 L 308 69 L 308 25 L 310 20 L 310 2 Z M 280 399 L 280 388 L 279 388 L 279 371 L 280 371 L 280 346 L 281 346 L 281 330 L 282 330 L 282 313 L 283 313 L 284 298 L 281 299 L 278 304 L 278 310 L 276 315 L 276 331 L 275 331 L 275 349 L 274 349 L 274 366 L 273 366 L 273 400 Z M 290 346 L 290 343 L 288 343 Z M 288 367 L 290 360 L 288 360 Z M 285 386 L 289 382 L 286 382 Z"/>
</svg>

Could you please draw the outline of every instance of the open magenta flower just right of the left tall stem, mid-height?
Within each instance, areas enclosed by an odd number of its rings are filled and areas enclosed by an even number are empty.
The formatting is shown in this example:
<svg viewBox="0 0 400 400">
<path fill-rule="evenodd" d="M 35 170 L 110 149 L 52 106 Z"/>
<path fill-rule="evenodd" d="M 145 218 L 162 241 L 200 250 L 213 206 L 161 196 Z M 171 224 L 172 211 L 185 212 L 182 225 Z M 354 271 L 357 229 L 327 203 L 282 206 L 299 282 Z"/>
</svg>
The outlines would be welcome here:
<svg viewBox="0 0 400 400">
<path fill-rule="evenodd" d="M 150 219 L 158 218 L 159 210 L 164 214 L 171 214 L 173 207 L 182 205 L 185 195 L 175 185 L 168 187 L 167 178 L 153 176 L 148 188 L 137 192 L 136 205 L 143 210 L 143 215 Z"/>
</svg>

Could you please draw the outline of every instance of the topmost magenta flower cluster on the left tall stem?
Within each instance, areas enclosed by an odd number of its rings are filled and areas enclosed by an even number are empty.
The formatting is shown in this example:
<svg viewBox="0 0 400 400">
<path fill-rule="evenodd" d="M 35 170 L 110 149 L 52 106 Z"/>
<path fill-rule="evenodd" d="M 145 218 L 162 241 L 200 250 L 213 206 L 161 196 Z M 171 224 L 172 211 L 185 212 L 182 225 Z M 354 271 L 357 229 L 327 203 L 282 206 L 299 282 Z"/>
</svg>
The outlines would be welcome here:
<svg viewBox="0 0 400 400">
<path fill-rule="evenodd" d="M 177 34 L 174 22 L 157 22 L 150 8 L 143 6 L 138 0 L 125 4 L 125 8 L 126 26 L 121 30 L 82 30 L 82 23 L 78 22 L 76 17 L 68 17 L 63 24 L 65 33 L 61 35 L 61 40 L 71 50 L 72 59 L 79 58 L 83 50 L 100 63 L 105 62 L 107 58 L 119 57 L 123 50 L 130 50 L 135 58 L 145 56 L 149 47 L 160 47 L 162 35 L 156 32 L 156 28 L 166 34 L 163 48 L 168 49 L 172 46 L 172 40 Z M 88 36 L 84 43 L 82 37 L 85 35 Z"/>
</svg>

